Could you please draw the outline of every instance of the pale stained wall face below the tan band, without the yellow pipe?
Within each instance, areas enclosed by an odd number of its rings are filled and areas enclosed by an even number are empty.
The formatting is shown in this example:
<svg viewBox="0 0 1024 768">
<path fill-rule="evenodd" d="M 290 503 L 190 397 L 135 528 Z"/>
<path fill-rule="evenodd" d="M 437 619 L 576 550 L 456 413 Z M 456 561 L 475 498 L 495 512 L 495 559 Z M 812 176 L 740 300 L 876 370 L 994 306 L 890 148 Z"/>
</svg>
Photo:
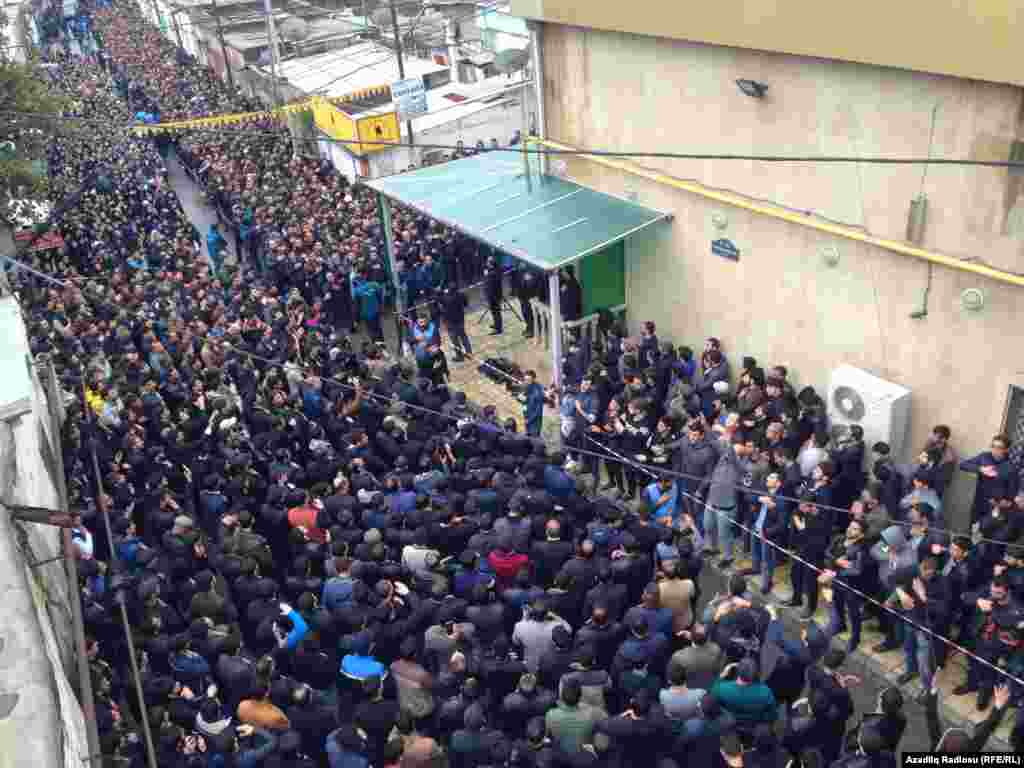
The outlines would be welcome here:
<svg viewBox="0 0 1024 768">
<path fill-rule="evenodd" d="M 1022 109 L 1013 86 L 578 28 L 545 26 L 544 60 L 547 135 L 584 147 L 921 157 L 938 104 L 934 157 L 1007 157 Z M 768 99 L 740 94 L 737 77 L 769 83 Z M 1006 233 L 1017 179 L 1005 169 L 637 162 L 897 240 L 924 189 L 926 247 L 1024 271 L 1022 242 Z M 910 445 L 948 423 L 955 444 L 973 452 L 1002 427 L 1008 387 L 1024 379 L 1011 360 L 1022 289 L 936 267 L 929 314 L 911 319 L 924 262 L 583 159 L 567 161 L 566 175 L 675 215 L 629 243 L 634 327 L 653 319 L 663 337 L 695 347 L 718 336 L 734 360 L 783 364 L 820 389 L 843 362 L 903 384 L 913 390 Z M 739 248 L 738 263 L 711 254 L 721 237 Z M 828 246 L 835 267 L 822 256 Z M 983 310 L 962 309 L 968 288 L 984 292 Z M 957 479 L 954 498 L 972 492 L 973 480 Z"/>
</svg>

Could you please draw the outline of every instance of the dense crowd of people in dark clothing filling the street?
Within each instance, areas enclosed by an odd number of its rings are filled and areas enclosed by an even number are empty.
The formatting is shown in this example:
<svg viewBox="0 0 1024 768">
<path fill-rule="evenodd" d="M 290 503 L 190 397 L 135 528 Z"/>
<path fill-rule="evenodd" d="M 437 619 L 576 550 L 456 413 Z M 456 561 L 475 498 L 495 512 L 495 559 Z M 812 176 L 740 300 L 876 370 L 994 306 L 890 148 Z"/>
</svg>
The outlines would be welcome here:
<svg viewBox="0 0 1024 768">
<path fill-rule="evenodd" d="M 783 367 L 731 371 L 716 339 L 696 354 L 648 323 L 570 345 L 548 446 L 535 374 L 524 430 L 444 375 L 438 321 L 472 352 L 458 321 L 478 278 L 502 331 L 500 254 L 395 211 L 401 298 L 426 307 L 406 365 L 375 343 L 393 281 L 374 197 L 269 119 L 125 130 L 140 111 L 252 104 L 134 3 L 81 10 L 99 55 L 47 70 L 69 104 L 49 156 L 67 247 L 15 284 L 33 351 L 80 395 L 65 466 L 104 755 L 143 765 L 148 730 L 161 768 L 883 768 L 915 676 L 937 751 L 980 749 L 1019 703 L 1009 438 L 961 462 L 938 426 L 899 466 L 857 428 L 837 437 Z M 205 253 L 169 152 L 234 236 Z M 539 295 L 537 278 L 513 291 Z M 943 508 L 957 466 L 979 476 L 963 535 Z M 712 554 L 728 589 L 708 600 Z M 799 637 L 756 596 L 787 561 Z M 844 663 L 870 608 L 906 672 L 856 714 Z M 950 637 L 974 654 L 956 693 L 993 702 L 973 734 L 939 721 Z M 1011 738 L 1024 751 L 1020 715 Z"/>
</svg>

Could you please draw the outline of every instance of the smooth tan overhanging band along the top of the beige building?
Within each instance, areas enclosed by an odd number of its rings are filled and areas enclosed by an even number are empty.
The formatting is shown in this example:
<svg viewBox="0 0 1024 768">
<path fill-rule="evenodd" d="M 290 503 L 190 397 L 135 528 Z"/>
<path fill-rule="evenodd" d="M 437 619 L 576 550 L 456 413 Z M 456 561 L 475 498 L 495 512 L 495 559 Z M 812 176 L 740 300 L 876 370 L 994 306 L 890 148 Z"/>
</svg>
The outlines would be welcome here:
<svg viewBox="0 0 1024 768">
<path fill-rule="evenodd" d="M 1024 84 L 1022 0 L 512 0 L 526 18 Z"/>
</svg>

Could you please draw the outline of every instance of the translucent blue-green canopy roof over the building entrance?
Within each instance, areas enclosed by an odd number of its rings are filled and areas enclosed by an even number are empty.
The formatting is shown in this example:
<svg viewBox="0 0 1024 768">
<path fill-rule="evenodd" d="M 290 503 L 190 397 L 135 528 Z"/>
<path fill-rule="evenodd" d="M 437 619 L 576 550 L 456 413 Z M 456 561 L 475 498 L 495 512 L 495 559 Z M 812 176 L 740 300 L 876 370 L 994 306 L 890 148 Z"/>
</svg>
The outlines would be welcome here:
<svg viewBox="0 0 1024 768">
<path fill-rule="evenodd" d="M 544 270 L 571 264 L 669 214 L 556 176 L 514 153 L 485 152 L 372 179 L 368 186 Z"/>
</svg>

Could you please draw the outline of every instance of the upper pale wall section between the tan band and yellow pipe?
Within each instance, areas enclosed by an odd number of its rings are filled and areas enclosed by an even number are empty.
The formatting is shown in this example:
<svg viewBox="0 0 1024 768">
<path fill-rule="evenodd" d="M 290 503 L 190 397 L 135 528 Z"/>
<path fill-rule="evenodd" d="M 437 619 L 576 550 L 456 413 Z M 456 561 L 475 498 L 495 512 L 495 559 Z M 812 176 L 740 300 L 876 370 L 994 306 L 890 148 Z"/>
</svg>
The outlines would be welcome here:
<svg viewBox="0 0 1024 768">
<path fill-rule="evenodd" d="M 1024 91 L 1010 85 L 567 27 L 545 28 L 544 60 L 548 135 L 577 146 L 1006 161 L 1024 139 Z M 925 246 L 1024 271 L 1009 233 L 1021 177 L 1005 168 L 638 162 L 897 240 L 924 193 Z"/>
</svg>

